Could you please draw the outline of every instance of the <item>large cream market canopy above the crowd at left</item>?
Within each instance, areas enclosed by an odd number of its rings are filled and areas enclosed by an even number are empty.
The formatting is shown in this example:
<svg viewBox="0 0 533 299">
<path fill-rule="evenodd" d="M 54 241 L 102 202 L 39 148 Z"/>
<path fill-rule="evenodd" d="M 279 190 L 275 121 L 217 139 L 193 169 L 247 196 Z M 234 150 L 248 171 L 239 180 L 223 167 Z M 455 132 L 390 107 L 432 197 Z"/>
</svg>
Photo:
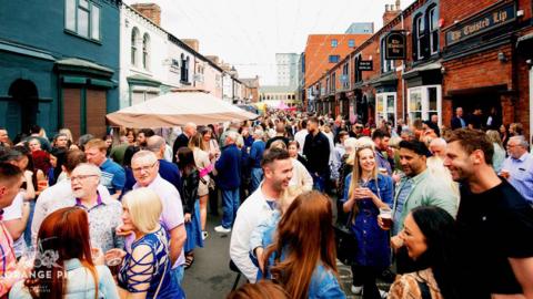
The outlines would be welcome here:
<svg viewBox="0 0 533 299">
<path fill-rule="evenodd" d="M 254 120 L 244 111 L 202 91 L 174 91 L 105 115 L 109 125 L 133 128 L 170 127 Z"/>
</svg>

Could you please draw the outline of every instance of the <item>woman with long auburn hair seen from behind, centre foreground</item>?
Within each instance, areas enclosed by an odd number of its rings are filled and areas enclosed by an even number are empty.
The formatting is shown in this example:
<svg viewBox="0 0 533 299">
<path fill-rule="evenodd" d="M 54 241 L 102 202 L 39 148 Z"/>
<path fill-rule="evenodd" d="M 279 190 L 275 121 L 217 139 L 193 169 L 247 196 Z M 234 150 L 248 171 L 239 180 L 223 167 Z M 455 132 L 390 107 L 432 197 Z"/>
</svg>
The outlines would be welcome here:
<svg viewBox="0 0 533 299">
<path fill-rule="evenodd" d="M 266 248 L 266 276 L 290 298 L 345 298 L 338 281 L 330 199 L 319 192 L 298 196 L 281 217 Z"/>
</svg>

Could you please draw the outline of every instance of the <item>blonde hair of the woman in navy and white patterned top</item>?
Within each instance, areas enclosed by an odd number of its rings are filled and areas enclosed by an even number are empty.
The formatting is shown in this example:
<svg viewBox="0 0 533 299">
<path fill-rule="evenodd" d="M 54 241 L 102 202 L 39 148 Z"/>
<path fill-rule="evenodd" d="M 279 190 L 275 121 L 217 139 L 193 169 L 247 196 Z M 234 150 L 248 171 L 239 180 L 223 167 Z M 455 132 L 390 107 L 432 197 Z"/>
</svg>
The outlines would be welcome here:
<svg viewBox="0 0 533 299">
<path fill-rule="evenodd" d="M 122 206 L 128 208 L 131 223 L 139 231 L 148 234 L 158 228 L 163 205 L 152 189 L 138 188 L 127 193 Z"/>
</svg>

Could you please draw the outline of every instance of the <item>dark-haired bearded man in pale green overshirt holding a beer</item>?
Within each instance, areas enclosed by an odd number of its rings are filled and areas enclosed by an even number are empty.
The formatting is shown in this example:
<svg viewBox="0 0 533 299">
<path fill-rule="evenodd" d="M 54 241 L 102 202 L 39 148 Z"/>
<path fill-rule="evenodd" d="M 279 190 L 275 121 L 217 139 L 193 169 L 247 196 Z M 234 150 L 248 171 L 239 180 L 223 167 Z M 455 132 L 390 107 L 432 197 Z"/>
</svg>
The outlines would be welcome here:
<svg viewBox="0 0 533 299">
<path fill-rule="evenodd" d="M 403 228 L 408 214 L 419 206 L 438 206 L 455 217 L 459 198 L 452 187 L 443 179 L 434 177 L 426 166 L 429 150 L 419 141 L 400 142 L 400 164 L 405 176 L 395 190 L 391 246 L 399 250 L 396 267 L 399 274 L 410 272 L 413 265 L 409 262 L 403 241 L 398 236 Z M 380 227 L 383 223 L 379 218 Z"/>
</svg>

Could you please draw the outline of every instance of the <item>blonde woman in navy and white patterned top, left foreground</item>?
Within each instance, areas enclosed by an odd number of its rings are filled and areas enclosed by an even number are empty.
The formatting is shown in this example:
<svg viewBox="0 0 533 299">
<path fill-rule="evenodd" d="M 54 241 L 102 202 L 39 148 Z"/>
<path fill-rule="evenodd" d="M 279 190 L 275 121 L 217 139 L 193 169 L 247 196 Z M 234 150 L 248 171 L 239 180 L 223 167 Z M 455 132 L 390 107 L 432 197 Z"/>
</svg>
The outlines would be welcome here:
<svg viewBox="0 0 533 299">
<path fill-rule="evenodd" d="M 118 274 L 121 298 L 184 298 L 171 277 L 169 236 L 159 219 L 163 206 L 149 188 L 139 188 L 122 197 L 122 226 L 134 238 L 127 251 L 111 249 L 105 260 L 123 257 Z"/>
</svg>

